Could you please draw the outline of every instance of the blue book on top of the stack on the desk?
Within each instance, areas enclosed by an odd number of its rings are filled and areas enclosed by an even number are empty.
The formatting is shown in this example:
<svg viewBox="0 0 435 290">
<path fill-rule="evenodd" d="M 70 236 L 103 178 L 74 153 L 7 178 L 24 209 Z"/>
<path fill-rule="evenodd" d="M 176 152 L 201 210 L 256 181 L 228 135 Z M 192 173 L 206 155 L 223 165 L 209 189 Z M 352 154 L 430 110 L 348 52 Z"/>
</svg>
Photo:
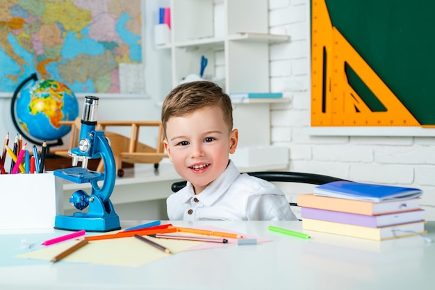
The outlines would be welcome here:
<svg viewBox="0 0 435 290">
<path fill-rule="evenodd" d="M 356 201 L 381 203 L 384 201 L 418 198 L 422 196 L 422 190 L 412 187 L 375 185 L 352 181 L 334 181 L 315 187 L 313 194 L 315 196 L 329 196 L 334 198 L 353 199 Z"/>
</svg>

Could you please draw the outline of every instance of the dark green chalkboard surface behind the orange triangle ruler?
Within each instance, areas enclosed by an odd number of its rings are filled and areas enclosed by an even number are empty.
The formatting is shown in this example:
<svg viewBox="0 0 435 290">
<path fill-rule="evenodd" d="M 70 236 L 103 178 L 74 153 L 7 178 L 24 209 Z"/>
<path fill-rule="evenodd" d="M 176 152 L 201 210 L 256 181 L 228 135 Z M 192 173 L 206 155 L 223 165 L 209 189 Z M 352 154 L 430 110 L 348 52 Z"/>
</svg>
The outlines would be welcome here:
<svg viewBox="0 0 435 290">
<path fill-rule="evenodd" d="M 326 0 L 332 25 L 422 125 L 435 124 L 435 1 Z M 361 83 L 348 72 L 350 83 Z M 361 87 L 361 92 L 364 88 Z M 375 98 L 364 98 L 382 110 Z"/>
</svg>

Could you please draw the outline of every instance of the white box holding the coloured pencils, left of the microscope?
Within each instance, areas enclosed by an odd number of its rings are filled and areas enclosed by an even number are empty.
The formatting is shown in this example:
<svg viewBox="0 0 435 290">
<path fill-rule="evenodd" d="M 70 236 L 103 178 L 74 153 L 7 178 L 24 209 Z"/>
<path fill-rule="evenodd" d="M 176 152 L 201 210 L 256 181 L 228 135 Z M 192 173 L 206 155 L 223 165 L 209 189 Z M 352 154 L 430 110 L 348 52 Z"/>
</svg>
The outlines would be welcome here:
<svg viewBox="0 0 435 290">
<path fill-rule="evenodd" d="M 53 228 L 63 214 L 63 182 L 53 172 L 1 174 L 0 230 Z"/>
</svg>

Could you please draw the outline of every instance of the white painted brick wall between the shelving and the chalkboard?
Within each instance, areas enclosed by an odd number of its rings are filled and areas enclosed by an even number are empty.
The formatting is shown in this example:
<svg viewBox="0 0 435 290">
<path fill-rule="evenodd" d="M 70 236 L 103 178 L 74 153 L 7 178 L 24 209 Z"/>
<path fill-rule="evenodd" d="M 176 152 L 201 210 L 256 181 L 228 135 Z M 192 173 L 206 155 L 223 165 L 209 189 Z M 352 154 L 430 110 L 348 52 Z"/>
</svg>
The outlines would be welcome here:
<svg viewBox="0 0 435 290">
<path fill-rule="evenodd" d="M 435 220 L 434 137 L 315 137 L 310 126 L 310 1 L 269 0 L 270 33 L 290 42 L 270 46 L 270 87 L 284 92 L 287 105 L 272 105 L 272 144 L 290 149 L 290 171 L 311 172 L 359 182 L 418 187 L 425 219 Z M 310 192 L 309 185 L 279 185 L 288 200 Z"/>
</svg>

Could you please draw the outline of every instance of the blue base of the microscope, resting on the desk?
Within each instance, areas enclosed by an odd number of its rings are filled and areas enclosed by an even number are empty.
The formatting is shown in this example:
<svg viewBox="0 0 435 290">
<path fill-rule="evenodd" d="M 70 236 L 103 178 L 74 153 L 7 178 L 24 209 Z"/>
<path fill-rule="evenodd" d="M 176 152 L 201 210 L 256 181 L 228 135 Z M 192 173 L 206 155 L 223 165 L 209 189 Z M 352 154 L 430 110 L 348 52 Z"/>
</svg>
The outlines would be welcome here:
<svg viewBox="0 0 435 290">
<path fill-rule="evenodd" d="M 76 212 L 74 216 L 56 216 L 54 228 L 58 230 L 85 230 L 87 232 L 109 232 L 120 230 L 120 217 L 112 216 L 92 217 Z"/>
</svg>

